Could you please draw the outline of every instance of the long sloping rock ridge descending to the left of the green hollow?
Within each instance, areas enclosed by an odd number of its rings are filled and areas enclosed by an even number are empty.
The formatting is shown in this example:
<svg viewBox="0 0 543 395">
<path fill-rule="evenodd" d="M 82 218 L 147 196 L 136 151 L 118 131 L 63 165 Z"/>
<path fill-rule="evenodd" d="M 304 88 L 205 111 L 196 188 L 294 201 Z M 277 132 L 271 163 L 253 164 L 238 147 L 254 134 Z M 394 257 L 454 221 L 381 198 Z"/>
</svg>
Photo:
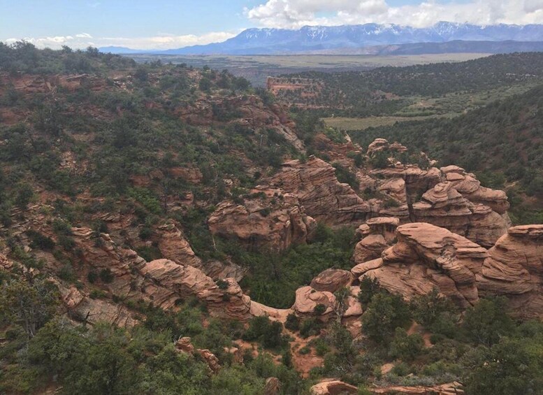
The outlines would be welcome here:
<svg viewBox="0 0 543 395">
<path fill-rule="evenodd" d="M 106 287 L 113 295 L 143 299 L 164 309 L 175 308 L 180 301 L 196 296 L 217 317 L 240 320 L 250 317 L 249 296 L 242 293 L 233 278 L 224 278 L 224 286 L 219 287 L 200 268 L 171 259 L 146 262 L 133 250 L 117 246 L 107 234 L 97 235 L 90 229 L 74 228 L 72 233 L 82 252 L 82 261 L 96 271 L 110 271 L 112 281 Z M 173 231 L 173 235 L 177 235 L 174 240 L 179 240 L 177 232 Z M 191 256 L 186 251 L 173 254 L 184 259 Z"/>
</svg>

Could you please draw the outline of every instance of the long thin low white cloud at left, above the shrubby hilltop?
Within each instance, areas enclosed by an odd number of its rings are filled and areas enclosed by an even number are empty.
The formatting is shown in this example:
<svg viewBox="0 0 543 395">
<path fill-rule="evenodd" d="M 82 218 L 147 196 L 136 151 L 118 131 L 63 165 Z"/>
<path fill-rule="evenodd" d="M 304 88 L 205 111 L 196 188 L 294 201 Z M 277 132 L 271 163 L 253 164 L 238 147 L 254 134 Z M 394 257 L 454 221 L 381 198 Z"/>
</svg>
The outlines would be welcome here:
<svg viewBox="0 0 543 395">
<path fill-rule="evenodd" d="M 241 30 L 240 30 L 241 31 Z M 71 48 L 87 48 L 89 45 L 94 47 L 106 47 L 109 45 L 128 47 L 134 50 L 169 50 L 172 48 L 182 48 L 188 45 L 209 44 L 225 41 L 240 31 L 217 31 L 201 36 L 187 34 L 184 36 L 176 36 L 173 34 L 162 34 L 159 36 L 150 37 L 93 37 L 88 33 L 79 33 L 74 36 L 54 36 L 54 37 L 25 37 L 25 38 L 8 38 L 6 43 L 11 44 L 15 41 L 24 39 L 33 43 L 38 48 L 51 48 L 57 50 L 62 45 L 68 45 Z"/>
</svg>

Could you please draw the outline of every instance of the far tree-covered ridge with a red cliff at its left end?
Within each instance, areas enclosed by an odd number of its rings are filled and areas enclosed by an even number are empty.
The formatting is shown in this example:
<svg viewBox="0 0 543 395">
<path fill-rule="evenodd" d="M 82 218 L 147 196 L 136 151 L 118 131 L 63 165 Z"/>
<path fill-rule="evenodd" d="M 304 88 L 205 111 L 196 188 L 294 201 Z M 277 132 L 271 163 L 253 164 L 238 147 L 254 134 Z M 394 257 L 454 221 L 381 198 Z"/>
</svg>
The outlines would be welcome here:
<svg viewBox="0 0 543 395">
<path fill-rule="evenodd" d="M 321 110 L 321 114 L 365 117 L 398 113 L 413 103 L 447 94 L 537 82 L 542 78 L 542 63 L 542 52 L 527 52 L 360 72 L 298 73 L 270 78 L 268 89 L 289 106 L 328 110 Z M 304 80 L 305 86 L 297 87 L 298 80 Z M 288 87 L 289 83 L 294 87 Z M 440 111 L 424 106 L 419 113 Z"/>
</svg>

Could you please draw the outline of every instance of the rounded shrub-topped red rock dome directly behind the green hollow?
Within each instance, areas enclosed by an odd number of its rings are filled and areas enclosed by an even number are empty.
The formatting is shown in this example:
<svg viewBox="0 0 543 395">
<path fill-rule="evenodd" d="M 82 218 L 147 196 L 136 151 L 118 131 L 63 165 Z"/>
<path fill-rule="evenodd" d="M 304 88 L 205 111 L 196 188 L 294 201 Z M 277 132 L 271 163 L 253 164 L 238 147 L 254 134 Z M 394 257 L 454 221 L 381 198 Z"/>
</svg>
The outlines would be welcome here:
<svg viewBox="0 0 543 395">
<path fill-rule="evenodd" d="M 249 249 L 280 252 L 305 243 L 317 227 L 293 194 L 254 189 L 251 196 L 243 204 L 220 203 L 208 220 L 212 234 L 236 238 Z"/>
</svg>

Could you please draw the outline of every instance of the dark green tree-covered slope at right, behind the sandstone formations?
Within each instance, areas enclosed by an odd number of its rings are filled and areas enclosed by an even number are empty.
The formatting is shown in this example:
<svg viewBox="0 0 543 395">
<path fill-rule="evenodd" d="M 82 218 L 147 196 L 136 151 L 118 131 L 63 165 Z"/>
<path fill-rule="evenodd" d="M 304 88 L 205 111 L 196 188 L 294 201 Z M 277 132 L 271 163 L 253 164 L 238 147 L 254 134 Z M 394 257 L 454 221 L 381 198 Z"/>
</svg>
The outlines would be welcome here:
<svg viewBox="0 0 543 395">
<path fill-rule="evenodd" d="M 540 85 L 452 120 L 401 122 L 350 134 L 362 145 L 377 136 L 400 141 L 444 166 L 475 171 L 487 185 L 507 187 L 516 221 L 542 223 L 542 94 Z"/>
</svg>

